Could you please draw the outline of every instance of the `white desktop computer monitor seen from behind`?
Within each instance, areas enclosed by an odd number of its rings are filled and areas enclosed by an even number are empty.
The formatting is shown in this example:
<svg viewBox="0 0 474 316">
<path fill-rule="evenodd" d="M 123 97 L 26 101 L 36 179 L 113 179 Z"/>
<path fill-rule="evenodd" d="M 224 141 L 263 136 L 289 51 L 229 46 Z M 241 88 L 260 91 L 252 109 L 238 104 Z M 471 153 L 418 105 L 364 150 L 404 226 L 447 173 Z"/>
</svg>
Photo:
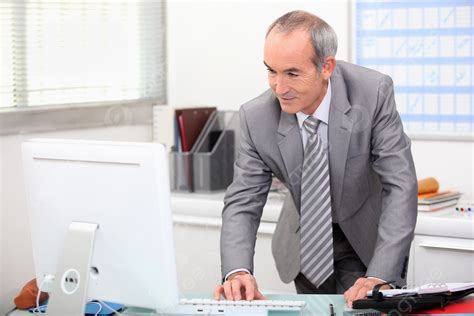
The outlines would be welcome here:
<svg viewBox="0 0 474 316">
<path fill-rule="evenodd" d="M 38 285 L 55 276 L 48 314 L 84 300 L 178 304 L 163 145 L 35 139 L 22 150 Z"/>
</svg>

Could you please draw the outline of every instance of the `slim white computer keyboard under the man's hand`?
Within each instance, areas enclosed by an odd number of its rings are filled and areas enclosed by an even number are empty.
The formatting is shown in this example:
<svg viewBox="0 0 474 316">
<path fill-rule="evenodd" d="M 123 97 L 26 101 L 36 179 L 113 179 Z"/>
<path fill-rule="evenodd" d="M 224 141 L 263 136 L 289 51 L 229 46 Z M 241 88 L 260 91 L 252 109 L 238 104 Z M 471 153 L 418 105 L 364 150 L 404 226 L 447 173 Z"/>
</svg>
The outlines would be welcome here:
<svg viewBox="0 0 474 316">
<path fill-rule="evenodd" d="M 300 315 L 306 302 L 283 300 L 217 301 L 184 298 L 180 300 L 179 306 L 180 315 L 268 315 L 268 312 L 280 311 L 285 312 L 285 315 Z"/>
</svg>

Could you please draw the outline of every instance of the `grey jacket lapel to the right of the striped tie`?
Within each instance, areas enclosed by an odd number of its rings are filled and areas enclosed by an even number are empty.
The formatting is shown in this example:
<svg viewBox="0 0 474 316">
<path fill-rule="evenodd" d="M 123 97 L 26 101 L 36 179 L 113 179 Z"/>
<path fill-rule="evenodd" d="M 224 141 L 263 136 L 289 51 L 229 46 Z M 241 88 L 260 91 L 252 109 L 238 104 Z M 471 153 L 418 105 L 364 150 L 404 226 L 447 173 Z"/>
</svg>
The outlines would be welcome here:
<svg viewBox="0 0 474 316">
<path fill-rule="evenodd" d="M 340 205 L 352 121 L 347 116 L 351 105 L 347 100 L 346 85 L 338 68 L 331 76 L 331 88 L 328 131 L 331 196 L 333 197 L 333 203 Z"/>
</svg>

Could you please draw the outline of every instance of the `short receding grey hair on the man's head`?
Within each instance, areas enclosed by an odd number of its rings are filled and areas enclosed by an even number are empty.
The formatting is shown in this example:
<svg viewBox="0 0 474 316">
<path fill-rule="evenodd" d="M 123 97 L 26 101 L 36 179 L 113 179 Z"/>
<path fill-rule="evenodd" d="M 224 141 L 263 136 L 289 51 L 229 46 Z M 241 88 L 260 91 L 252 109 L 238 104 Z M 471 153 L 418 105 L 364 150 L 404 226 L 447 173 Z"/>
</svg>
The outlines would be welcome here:
<svg viewBox="0 0 474 316">
<path fill-rule="evenodd" d="M 321 71 L 328 56 L 336 56 L 336 32 L 326 21 L 314 14 L 299 10 L 288 12 L 270 25 L 265 38 L 273 29 L 281 33 L 290 33 L 297 29 L 306 29 L 310 32 L 315 53 L 313 62 L 318 71 Z"/>
</svg>

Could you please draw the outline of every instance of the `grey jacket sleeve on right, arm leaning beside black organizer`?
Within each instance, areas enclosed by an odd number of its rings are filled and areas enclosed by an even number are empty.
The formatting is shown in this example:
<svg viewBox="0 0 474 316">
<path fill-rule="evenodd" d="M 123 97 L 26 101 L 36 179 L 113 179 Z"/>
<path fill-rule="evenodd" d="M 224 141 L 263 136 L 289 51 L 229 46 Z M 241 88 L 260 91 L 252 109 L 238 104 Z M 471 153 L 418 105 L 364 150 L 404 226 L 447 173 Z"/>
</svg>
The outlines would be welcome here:
<svg viewBox="0 0 474 316">
<path fill-rule="evenodd" d="M 382 184 L 382 209 L 367 275 L 396 283 L 404 282 L 417 217 L 418 187 L 410 145 L 396 111 L 393 82 L 384 76 L 371 139 L 372 168 Z"/>
</svg>

